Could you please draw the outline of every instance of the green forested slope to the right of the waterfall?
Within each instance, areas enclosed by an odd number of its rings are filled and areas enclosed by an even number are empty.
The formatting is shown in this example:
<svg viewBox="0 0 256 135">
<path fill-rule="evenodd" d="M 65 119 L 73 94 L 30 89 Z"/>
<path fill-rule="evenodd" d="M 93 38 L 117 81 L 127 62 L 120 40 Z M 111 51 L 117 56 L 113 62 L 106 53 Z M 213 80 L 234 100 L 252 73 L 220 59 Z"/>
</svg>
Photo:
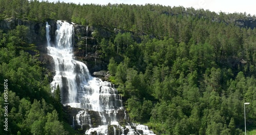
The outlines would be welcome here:
<svg viewBox="0 0 256 135">
<path fill-rule="evenodd" d="M 165 13 L 157 13 L 158 8 Z M 134 24 L 119 24 L 117 19 L 115 26 L 130 27 L 134 35 L 148 32 L 156 38 L 141 36 L 142 41 L 134 43 L 126 38 L 133 35 L 118 32 L 110 38 L 115 44 L 113 48 L 106 39 L 100 43 L 104 57 L 112 57 L 110 80 L 128 98 L 126 107 L 131 119 L 154 123 L 152 128 L 158 134 L 241 134 L 243 102 L 254 106 L 255 70 L 250 63 L 256 53 L 249 49 L 252 38 L 248 35 L 254 37 L 256 33 L 230 22 L 228 16 L 241 17 L 238 14 L 218 16 L 193 8 L 185 11 L 182 7 L 169 11 L 153 5 L 138 10 L 143 13 L 134 13 Z M 204 19 L 198 18 L 199 12 Z M 211 21 L 211 17 L 230 24 Z M 250 34 L 245 34 L 247 31 Z M 114 53 L 108 54 L 110 50 Z M 241 59 L 247 63 L 240 62 Z M 252 124 L 255 117 L 250 107 L 248 117 Z"/>
</svg>

